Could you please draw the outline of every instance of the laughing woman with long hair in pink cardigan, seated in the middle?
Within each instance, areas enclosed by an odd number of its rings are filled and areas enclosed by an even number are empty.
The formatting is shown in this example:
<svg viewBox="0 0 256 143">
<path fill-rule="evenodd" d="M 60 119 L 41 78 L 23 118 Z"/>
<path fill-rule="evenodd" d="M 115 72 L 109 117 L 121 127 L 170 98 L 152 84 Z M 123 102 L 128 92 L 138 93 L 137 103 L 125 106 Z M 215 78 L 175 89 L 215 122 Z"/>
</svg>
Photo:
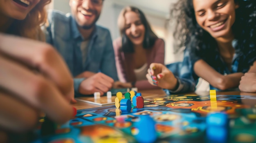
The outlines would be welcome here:
<svg viewBox="0 0 256 143">
<path fill-rule="evenodd" d="M 164 64 L 164 40 L 159 39 L 145 15 L 135 7 L 125 7 L 118 18 L 121 37 L 113 42 L 120 81 L 115 88 L 155 89 L 146 74 L 151 63 Z"/>
</svg>

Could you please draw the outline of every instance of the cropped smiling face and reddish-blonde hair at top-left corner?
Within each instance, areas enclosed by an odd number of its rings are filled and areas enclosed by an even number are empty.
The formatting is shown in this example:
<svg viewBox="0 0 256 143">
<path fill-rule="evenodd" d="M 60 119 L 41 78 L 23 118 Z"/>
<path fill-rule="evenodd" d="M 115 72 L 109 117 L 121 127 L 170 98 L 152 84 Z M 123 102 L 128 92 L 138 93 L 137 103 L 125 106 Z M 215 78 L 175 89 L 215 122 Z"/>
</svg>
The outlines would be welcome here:
<svg viewBox="0 0 256 143">
<path fill-rule="evenodd" d="M 45 5 L 51 0 L 22 1 L 0 0 L 0 32 L 44 40 L 40 25 L 47 20 Z"/>
</svg>

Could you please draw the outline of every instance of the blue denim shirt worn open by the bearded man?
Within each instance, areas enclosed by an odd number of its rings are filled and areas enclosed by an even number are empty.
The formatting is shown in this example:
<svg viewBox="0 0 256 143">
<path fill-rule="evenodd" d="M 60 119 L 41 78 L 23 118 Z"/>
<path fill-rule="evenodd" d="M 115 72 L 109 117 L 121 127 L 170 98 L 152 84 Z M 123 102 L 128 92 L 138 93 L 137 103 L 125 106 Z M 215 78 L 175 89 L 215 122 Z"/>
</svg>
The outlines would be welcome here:
<svg viewBox="0 0 256 143">
<path fill-rule="evenodd" d="M 76 21 L 70 13 L 66 15 L 60 11 L 49 11 L 49 26 L 46 28 L 46 41 L 63 56 L 73 77 L 90 71 L 104 73 L 118 80 L 115 65 L 115 54 L 112 39 L 108 29 L 96 26 L 86 48 L 86 60 L 83 64 L 81 42 L 84 41 Z M 74 78 L 75 93 L 84 78 Z"/>
</svg>

